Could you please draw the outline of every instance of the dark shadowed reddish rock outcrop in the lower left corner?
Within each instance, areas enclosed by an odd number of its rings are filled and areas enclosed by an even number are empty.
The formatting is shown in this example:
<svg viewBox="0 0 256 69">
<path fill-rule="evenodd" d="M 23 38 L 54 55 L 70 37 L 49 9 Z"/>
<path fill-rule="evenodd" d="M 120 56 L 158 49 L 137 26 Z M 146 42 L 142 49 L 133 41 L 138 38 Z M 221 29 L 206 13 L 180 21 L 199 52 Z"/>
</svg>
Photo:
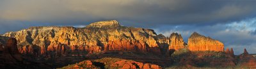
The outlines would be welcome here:
<svg viewBox="0 0 256 69">
<path fill-rule="evenodd" d="M 3 48 L 3 52 L 0 53 L 0 67 L 3 69 L 16 69 L 16 68 L 50 68 L 44 63 L 31 61 L 26 56 L 20 55 L 17 49 L 17 40 L 10 37 L 10 39 L 4 39 L 5 44 L 0 48 Z"/>
</svg>

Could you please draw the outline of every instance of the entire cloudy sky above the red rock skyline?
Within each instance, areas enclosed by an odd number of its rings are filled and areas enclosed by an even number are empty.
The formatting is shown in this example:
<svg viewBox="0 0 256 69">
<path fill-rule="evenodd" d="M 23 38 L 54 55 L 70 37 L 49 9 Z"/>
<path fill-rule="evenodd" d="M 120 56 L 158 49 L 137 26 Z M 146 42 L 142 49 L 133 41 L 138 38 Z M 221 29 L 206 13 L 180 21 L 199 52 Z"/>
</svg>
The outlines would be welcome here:
<svg viewBox="0 0 256 69">
<path fill-rule="evenodd" d="M 1 0 L 0 34 L 33 26 L 83 27 L 101 20 L 152 28 L 188 42 L 193 32 L 256 53 L 255 0 Z"/>
</svg>

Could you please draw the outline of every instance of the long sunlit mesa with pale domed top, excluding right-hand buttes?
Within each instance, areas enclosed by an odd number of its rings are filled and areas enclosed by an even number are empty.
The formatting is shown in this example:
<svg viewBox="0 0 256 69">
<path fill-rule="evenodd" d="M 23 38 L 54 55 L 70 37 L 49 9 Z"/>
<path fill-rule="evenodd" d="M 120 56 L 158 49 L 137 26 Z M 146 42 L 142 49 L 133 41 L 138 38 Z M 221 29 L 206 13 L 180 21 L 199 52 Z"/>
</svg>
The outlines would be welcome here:
<svg viewBox="0 0 256 69">
<path fill-rule="evenodd" d="M 17 32 L 8 32 L 6 37 L 15 37 L 20 53 L 45 54 L 58 51 L 134 51 L 161 53 L 159 47 L 166 43 L 157 37 L 154 30 L 121 26 L 116 20 L 92 23 L 84 28 L 75 27 L 30 27 Z"/>
</svg>

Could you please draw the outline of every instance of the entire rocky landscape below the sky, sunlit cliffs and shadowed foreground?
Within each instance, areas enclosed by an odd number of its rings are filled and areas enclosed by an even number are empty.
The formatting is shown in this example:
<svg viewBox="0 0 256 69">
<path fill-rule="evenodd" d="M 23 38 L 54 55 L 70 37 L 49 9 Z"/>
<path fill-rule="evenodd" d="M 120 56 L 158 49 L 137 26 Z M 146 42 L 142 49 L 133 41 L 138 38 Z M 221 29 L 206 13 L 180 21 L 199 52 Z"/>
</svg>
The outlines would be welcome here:
<svg viewBox="0 0 256 69">
<path fill-rule="evenodd" d="M 225 50 L 222 42 L 197 32 L 186 43 L 178 33 L 165 37 L 152 29 L 122 26 L 116 20 L 82 28 L 30 27 L 7 32 L 0 36 L 0 52 L 1 61 L 13 62 L 0 63 L 4 68 L 31 64 L 29 68 L 256 67 L 256 59 L 246 49 L 236 56 L 231 47 Z"/>
</svg>

